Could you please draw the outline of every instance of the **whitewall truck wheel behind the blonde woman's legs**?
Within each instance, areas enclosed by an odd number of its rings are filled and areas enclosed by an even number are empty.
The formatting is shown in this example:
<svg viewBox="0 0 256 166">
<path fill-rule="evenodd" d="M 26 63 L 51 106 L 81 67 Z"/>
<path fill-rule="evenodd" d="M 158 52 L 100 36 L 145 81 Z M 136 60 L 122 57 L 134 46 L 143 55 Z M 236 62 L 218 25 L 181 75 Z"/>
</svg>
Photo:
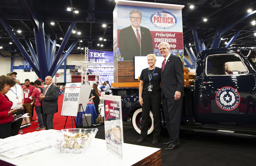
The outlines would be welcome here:
<svg viewBox="0 0 256 166">
<path fill-rule="evenodd" d="M 142 108 L 137 109 L 134 113 L 133 116 L 131 117 L 131 124 L 133 126 L 134 131 L 137 134 L 141 133 L 141 118 L 142 118 Z M 152 132 L 154 130 L 154 119 L 153 119 L 153 114 L 150 111 L 149 113 L 149 126 L 147 130 L 147 135 L 150 136 L 152 135 Z"/>
</svg>

